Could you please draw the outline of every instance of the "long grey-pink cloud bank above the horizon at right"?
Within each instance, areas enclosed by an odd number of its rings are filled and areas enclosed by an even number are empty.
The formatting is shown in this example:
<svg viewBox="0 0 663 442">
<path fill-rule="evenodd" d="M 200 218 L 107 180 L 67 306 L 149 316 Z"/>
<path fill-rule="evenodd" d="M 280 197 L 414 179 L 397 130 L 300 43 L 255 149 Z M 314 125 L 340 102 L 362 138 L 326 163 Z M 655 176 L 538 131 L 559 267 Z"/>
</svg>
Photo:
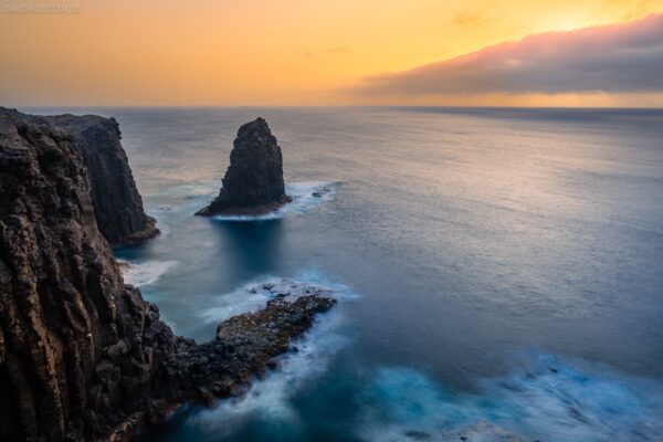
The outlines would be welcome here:
<svg viewBox="0 0 663 442">
<path fill-rule="evenodd" d="M 663 92 L 663 14 L 526 36 L 409 71 L 367 77 L 362 95 Z"/>
</svg>

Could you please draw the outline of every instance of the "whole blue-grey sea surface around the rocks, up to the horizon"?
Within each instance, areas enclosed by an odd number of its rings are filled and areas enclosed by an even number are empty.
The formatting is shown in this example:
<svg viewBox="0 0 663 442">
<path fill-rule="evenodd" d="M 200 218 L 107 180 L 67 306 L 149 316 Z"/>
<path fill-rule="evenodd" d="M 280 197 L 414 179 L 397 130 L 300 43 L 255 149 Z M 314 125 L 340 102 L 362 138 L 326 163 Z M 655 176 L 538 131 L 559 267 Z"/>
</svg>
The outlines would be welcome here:
<svg viewBox="0 0 663 442">
<path fill-rule="evenodd" d="M 164 231 L 116 253 L 177 333 L 264 281 L 341 298 L 245 397 L 143 440 L 663 440 L 663 110 L 93 110 Z M 294 204 L 193 217 L 257 116 Z"/>
</svg>

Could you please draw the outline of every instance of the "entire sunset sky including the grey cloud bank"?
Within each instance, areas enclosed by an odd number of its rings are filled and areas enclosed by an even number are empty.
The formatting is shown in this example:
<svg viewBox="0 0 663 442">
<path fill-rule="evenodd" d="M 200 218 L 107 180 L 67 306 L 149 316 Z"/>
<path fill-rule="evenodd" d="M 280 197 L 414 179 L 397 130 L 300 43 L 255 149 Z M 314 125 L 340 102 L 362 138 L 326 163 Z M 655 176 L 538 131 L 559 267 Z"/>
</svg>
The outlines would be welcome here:
<svg viewBox="0 0 663 442">
<path fill-rule="evenodd" d="M 1 2 L 6 106 L 663 106 L 663 0 Z"/>
</svg>

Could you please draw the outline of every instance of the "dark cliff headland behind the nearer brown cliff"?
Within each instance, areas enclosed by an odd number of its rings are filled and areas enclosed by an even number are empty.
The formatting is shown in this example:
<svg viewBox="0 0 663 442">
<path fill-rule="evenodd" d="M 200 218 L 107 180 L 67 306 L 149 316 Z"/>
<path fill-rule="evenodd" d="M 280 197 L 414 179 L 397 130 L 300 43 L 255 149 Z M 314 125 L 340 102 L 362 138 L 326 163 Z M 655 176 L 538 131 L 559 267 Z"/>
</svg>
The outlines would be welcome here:
<svg viewBox="0 0 663 442">
<path fill-rule="evenodd" d="M 59 128 L 67 134 L 71 147 L 80 154 L 87 170 L 97 227 L 112 246 L 134 244 L 159 233 L 155 219 L 143 209 L 143 199 L 114 118 L 35 116 L 3 107 L 0 107 L 0 115 Z"/>
</svg>

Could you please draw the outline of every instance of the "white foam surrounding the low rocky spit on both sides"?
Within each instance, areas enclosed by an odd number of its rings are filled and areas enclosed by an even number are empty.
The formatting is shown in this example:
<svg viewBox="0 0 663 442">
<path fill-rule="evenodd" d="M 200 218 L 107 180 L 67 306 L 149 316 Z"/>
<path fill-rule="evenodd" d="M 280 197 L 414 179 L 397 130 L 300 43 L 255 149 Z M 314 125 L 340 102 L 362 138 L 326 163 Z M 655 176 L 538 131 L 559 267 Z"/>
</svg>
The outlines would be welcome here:
<svg viewBox="0 0 663 442">
<path fill-rule="evenodd" d="M 312 282 L 313 278 L 316 283 Z M 204 314 L 204 319 L 223 320 L 259 309 L 277 294 L 287 294 L 286 297 L 305 296 L 311 288 L 339 301 L 355 297 L 346 286 L 329 283 L 318 285 L 319 281 L 316 274 L 308 274 L 308 281 L 269 278 L 259 284 L 249 284 L 227 295 L 219 307 Z M 347 344 L 347 337 L 343 335 L 344 324 L 345 318 L 336 308 L 320 315 L 312 329 L 293 343 L 297 351 L 277 358 L 277 370 L 254 380 L 244 396 L 219 401 L 215 408 L 191 415 L 188 424 L 219 435 L 231 434 L 255 418 L 288 427 L 297 425 L 301 418 L 292 406 L 292 398 L 303 386 L 323 375 L 336 352 Z"/>
</svg>

